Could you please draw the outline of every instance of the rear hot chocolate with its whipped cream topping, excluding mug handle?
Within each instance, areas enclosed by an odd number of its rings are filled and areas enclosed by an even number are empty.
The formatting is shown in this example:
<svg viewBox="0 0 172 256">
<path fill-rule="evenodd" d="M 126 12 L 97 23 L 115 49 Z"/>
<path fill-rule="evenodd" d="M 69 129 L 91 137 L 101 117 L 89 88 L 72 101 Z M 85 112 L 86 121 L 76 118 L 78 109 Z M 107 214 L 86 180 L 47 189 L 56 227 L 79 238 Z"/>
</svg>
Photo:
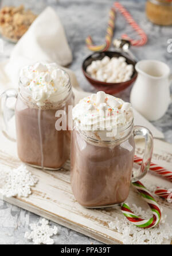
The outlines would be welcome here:
<svg viewBox="0 0 172 256">
<path fill-rule="evenodd" d="M 25 67 L 15 106 L 18 156 L 36 167 L 57 170 L 69 159 L 71 131 L 56 130 L 56 111 L 73 105 L 68 75 L 55 64 Z"/>
</svg>

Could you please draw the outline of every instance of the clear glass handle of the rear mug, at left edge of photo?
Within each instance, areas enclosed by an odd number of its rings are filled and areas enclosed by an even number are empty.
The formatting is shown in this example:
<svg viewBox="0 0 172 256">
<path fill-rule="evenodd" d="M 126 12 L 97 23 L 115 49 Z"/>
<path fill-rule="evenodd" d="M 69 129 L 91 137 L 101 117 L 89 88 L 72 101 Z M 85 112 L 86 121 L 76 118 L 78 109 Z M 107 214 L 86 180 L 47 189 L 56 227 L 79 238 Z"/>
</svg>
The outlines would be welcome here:
<svg viewBox="0 0 172 256">
<path fill-rule="evenodd" d="M 9 98 L 17 99 L 18 92 L 15 89 L 8 89 L 0 95 L 0 116 L 2 133 L 11 141 L 16 141 L 9 133 L 9 121 L 14 116 L 14 109 L 7 106 Z"/>
</svg>

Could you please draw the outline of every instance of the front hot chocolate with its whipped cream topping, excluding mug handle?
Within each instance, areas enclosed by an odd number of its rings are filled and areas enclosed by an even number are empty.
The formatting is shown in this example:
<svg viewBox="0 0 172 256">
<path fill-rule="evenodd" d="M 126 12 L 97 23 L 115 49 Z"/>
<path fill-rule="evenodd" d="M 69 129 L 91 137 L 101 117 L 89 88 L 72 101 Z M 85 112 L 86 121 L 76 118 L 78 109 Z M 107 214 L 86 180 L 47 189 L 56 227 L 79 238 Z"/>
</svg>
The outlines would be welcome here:
<svg viewBox="0 0 172 256">
<path fill-rule="evenodd" d="M 85 207 L 124 202 L 130 190 L 135 150 L 131 105 L 98 92 L 80 101 L 73 119 L 71 185 L 77 201 Z M 103 130 L 104 119 L 110 122 Z M 93 130 L 91 120 L 97 130 Z M 86 123 L 88 129 L 84 129 Z"/>
</svg>

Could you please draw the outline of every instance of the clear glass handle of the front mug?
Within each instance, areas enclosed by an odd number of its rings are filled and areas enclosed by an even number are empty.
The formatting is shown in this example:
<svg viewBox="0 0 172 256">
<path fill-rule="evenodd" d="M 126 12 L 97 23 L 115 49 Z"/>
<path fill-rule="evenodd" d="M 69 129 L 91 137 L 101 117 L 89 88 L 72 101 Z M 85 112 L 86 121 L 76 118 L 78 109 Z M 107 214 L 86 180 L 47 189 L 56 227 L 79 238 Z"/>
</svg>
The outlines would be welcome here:
<svg viewBox="0 0 172 256">
<path fill-rule="evenodd" d="M 143 126 L 135 126 L 134 127 L 134 137 L 141 136 L 145 139 L 145 148 L 144 148 L 144 156 L 142 165 L 138 169 L 138 164 L 134 164 L 134 167 L 137 165 L 136 174 L 133 174 L 132 182 L 136 182 L 142 179 L 148 172 L 151 164 L 151 158 L 153 156 L 153 145 L 154 145 L 154 138 L 153 134 L 151 134 L 150 130 Z M 138 173 L 139 172 L 139 173 Z"/>
</svg>

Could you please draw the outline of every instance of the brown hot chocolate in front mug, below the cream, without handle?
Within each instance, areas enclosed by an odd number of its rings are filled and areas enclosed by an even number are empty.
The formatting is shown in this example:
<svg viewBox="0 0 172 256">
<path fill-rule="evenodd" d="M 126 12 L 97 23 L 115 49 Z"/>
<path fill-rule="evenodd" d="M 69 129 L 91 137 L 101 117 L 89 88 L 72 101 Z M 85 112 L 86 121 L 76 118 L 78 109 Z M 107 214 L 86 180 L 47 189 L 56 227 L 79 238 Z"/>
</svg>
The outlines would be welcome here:
<svg viewBox="0 0 172 256">
<path fill-rule="evenodd" d="M 85 207 L 115 205 L 129 194 L 134 157 L 134 137 L 120 145 L 93 145 L 73 131 L 71 184 L 77 201 Z"/>
</svg>

